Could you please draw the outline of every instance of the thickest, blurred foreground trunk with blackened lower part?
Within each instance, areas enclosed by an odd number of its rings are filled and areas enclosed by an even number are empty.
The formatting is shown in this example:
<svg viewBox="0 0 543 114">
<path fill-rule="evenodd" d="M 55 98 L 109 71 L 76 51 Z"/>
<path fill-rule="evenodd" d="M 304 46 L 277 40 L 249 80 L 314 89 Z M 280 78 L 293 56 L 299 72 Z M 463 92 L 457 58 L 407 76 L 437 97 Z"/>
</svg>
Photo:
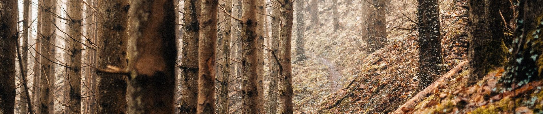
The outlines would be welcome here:
<svg viewBox="0 0 543 114">
<path fill-rule="evenodd" d="M 175 90 L 175 10 L 173 0 L 132 0 L 129 37 L 131 53 L 127 112 L 173 113 Z"/>
</svg>

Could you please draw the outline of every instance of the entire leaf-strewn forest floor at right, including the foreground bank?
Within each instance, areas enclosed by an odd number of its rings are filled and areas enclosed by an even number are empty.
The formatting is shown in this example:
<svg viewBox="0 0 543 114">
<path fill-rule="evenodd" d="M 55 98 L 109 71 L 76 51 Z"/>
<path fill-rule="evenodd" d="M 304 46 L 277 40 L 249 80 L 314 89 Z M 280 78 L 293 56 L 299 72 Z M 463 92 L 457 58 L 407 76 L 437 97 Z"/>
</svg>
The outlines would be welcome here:
<svg viewBox="0 0 543 114">
<path fill-rule="evenodd" d="M 402 1 L 402 0 L 398 0 Z M 424 90 L 413 107 L 399 108 L 417 98 L 418 47 L 416 30 L 406 16 L 414 18 L 413 1 L 392 2 L 387 12 L 388 45 L 367 53 L 357 10 L 359 4 L 342 5 L 339 22 L 342 30 L 331 31 L 332 17 L 320 18 L 321 25 L 310 25 L 305 33 L 307 59 L 293 64 L 295 113 L 543 113 L 543 82 L 528 83 L 519 89 L 496 91 L 496 79 L 503 68 L 496 68 L 476 85 L 467 86 L 468 48 L 466 1 L 440 0 L 443 74 L 435 88 Z M 332 15 L 319 6 L 320 15 Z M 306 20 L 310 22 L 310 20 Z M 507 35 L 507 33 L 506 33 Z M 294 43 L 293 43 L 294 44 Z M 293 45 L 295 46 L 295 45 Z M 333 83 L 337 82 L 337 83 Z M 336 85 L 337 84 L 337 85 Z M 423 92 L 421 92 L 423 93 Z M 420 98 L 420 97 L 419 97 Z"/>
</svg>

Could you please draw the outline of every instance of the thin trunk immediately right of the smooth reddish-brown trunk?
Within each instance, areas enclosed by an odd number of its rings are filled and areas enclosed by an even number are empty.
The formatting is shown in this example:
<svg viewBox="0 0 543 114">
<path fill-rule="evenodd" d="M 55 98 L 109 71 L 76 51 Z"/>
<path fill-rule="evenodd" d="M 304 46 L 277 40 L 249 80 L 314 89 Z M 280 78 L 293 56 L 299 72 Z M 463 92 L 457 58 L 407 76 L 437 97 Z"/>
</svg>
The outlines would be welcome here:
<svg viewBox="0 0 543 114">
<path fill-rule="evenodd" d="M 228 14 L 232 14 L 232 0 L 226 0 L 222 4 L 223 8 L 226 10 Z M 220 64 L 223 65 L 222 67 L 222 78 L 219 79 L 220 81 L 220 92 L 219 92 L 219 113 L 220 114 L 228 114 L 229 113 L 229 107 L 230 102 L 228 100 L 228 85 L 230 83 L 230 39 L 232 37 L 231 35 L 231 21 L 232 18 L 228 15 L 224 14 L 223 17 L 225 18 L 225 21 L 223 22 L 223 40 L 222 40 L 222 50 L 223 50 L 223 58 L 220 61 Z"/>
</svg>

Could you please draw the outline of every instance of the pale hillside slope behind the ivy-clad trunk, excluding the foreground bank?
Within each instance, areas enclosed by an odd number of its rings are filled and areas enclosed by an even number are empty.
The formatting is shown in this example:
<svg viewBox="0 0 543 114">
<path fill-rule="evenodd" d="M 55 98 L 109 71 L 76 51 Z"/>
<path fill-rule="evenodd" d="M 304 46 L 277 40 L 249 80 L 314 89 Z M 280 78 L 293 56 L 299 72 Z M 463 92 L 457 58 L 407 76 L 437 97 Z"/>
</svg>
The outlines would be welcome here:
<svg viewBox="0 0 543 114">
<path fill-rule="evenodd" d="M 295 84 L 296 113 L 388 113 L 413 97 L 418 83 L 414 74 L 418 64 L 416 30 L 394 28 L 414 26 L 409 19 L 415 18 L 413 12 L 416 7 L 406 5 L 416 4 L 413 2 L 390 2 L 392 5 L 387 8 L 389 45 L 374 53 L 365 53 L 365 41 L 360 32 L 361 13 L 358 11 L 361 6 L 358 3 L 339 5 L 339 12 L 343 14 L 340 22 L 349 23 L 340 23 L 343 29 L 337 32 L 330 31 L 331 17 L 321 18 L 321 25 L 308 28 L 305 46 L 310 57 L 305 62 L 295 63 L 294 83 L 309 83 L 305 79 L 313 79 L 310 81 L 317 84 Z M 465 9 L 461 8 L 465 4 L 453 0 L 444 0 L 440 4 L 445 71 L 465 61 L 466 17 L 462 16 Z M 319 7 L 320 15 L 331 15 L 331 11 L 326 10 L 329 6 Z M 330 70 L 330 66 L 336 71 Z M 325 85 L 325 82 L 336 82 L 341 89 L 336 91 L 333 83 Z M 301 99 L 311 102 L 301 102 Z"/>
</svg>

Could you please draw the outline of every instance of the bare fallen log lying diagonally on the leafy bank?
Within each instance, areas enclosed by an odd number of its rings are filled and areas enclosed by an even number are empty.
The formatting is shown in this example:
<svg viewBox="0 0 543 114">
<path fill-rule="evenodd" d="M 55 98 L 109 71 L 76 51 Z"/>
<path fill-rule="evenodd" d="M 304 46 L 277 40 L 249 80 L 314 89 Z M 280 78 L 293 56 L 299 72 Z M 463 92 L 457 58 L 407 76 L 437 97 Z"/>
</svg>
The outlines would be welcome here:
<svg viewBox="0 0 543 114">
<path fill-rule="evenodd" d="M 396 111 L 392 112 L 393 114 L 400 114 L 405 113 L 406 111 L 409 111 L 413 109 L 419 102 L 424 100 L 426 96 L 430 95 L 435 88 L 437 88 L 439 85 L 446 84 L 450 81 L 451 77 L 454 76 L 454 74 L 458 73 L 460 70 L 462 70 L 462 66 L 467 65 L 468 61 L 464 61 L 456 66 L 454 66 L 453 69 L 451 69 L 449 72 L 445 73 L 445 75 L 441 76 L 437 81 L 432 83 L 430 86 L 428 86 L 426 89 L 420 91 L 415 95 L 415 97 L 407 100 L 407 102 L 396 109 Z"/>
</svg>

